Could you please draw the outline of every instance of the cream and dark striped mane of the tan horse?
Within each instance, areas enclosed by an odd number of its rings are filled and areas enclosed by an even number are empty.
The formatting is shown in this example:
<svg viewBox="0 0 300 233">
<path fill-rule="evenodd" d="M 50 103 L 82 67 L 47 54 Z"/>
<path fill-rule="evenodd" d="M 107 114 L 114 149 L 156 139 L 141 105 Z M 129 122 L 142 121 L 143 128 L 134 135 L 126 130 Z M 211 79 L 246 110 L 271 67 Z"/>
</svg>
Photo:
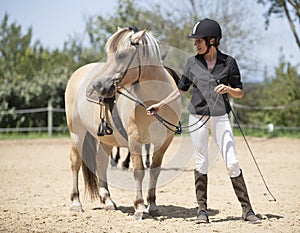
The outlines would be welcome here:
<svg viewBox="0 0 300 233">
<path fill-rule="evenodd" d="M 129 49 L 132 46 L 132 36 L 138 32 L 134 32 L 130 28 L 118 29 L 107 41 L 106 52 L 110 54 L 118 53 L 121 50 Z M 159 41 L 153 36 L 150 31 L 146 31 L 145 35 L 139 41 L 144 58 L 148 61 L 151 59 L 153 64 L 161 64 L 161 54 L 159 49 Z"/>
</svg>

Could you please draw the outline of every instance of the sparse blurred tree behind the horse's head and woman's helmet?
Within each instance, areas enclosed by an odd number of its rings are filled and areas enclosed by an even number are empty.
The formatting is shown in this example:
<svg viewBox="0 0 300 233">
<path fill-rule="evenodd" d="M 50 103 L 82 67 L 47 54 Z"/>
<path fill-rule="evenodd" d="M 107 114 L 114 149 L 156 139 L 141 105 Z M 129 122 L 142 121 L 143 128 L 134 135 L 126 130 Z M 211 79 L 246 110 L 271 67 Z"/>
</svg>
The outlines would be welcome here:
<svg viewBox="0 0 300 233">
<path fill-rule="evenodd" d="M 258 35 L 255 34 L 253 23 L 245 20 L 249 13 L 246 6 L 239 1 L 217 0 L 208 5 L 204 0 L 184 0 L 173 5 L 148 3 L 148 8 L 149 10 L 145 5 L 142 7 L 136 0 L 118 0 L 116 10 L 110 16 L 90 17 L 87 20 L 88 38 L 93 51 L 97 51 L 100 59 L 106 57 L 105 43 L 117 30 L 117 26 L 136 26 L 154 32 L 162 45 L 181 50 L 181 56 L 170 55 L 170 51 L 162 51 L 162 55 L 169 54 L 167 59 L 171 61 L 168 60 L 167 63 L 175 63 L 176 67 L 182 68 L 186 59 L 184 53 L 191 55 L 195 52 L 193 42 L 187 38 L 192 26 L 201 18 L 211 17 L 221 22 L 223 28 L 221 49 L 233 55 L 239 61 L 241 69 L 246 70 L 245 73 L 255 72 L 253 67 L 256 67 L 257 61 L 251 60 L 249 56 L 245 57 L 245 54 Z"/>
</svg>

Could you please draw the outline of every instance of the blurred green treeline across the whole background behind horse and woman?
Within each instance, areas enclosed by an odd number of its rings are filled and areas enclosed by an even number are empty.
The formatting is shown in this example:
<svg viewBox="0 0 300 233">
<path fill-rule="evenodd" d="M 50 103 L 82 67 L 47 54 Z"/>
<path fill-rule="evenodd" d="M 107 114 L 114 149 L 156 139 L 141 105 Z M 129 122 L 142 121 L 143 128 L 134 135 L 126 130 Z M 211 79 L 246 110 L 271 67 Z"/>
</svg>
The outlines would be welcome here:
<svg viewBox="0 0 300 233">
<path fill-rule="evenodd" d="M 10 22 L 8 15 L 5 15 L 0 31 L 1 111 L 46 107 L 49 100 L 52 100 L 54 107 L 64 108 L 64 91 L 72 72 L 84 64 L 105 59 L 107 38 L 116 31 L 117 26 L 148 28 L 162 46 L 177 49 L 179 53 L 173 54 L 168 49 L 162 52 L 174 68 L 174 64 L 184 66 L 185 55 L 194 53 L 193 43 L 187 38 L 194 23 L 204 17 L 215 18 L 222 22 L 222 50 L 236 57 L 242 68 L 249 69 L 253 65 L 249 63 L 245 51 L 256 35 L 250 33 L 251 28 L 247 29 L 244 20 L 246 9 L 237 0 L 233 0 L 234 7 L 226 0 L 214 2 L 208 7 L 204 0 L 185 0 L 182 1 L 184 8 L 182 5 L 163 8 L 163 4 L 152 4 L 147 10 L 139 6 L 136 0 L 118 0 L 117 8 L 109 16 L 91 16 L 86 21 L 88 46 L 80 38 L 73 37 L 64 43 L 61 50 L 45 49 L 39 41 L 32 41 L 31 28 L 24 32 L 20 25 Z M 275 77 L 252 84 L 252 89 L 240 103 L 299 106 L 298 68 L 281 59 Z M 244 123 L 250 124 L 273 122 L 295 125 L 295 122 L 300 122 L 299 107 L 273 112 L 239 112 L 239 116 Z M 45 126 L 46 121 L 46 113 L 2 114 L 0 128 Z M 54 124 L 65 125 L 65 116 L 60 114 Z"/>
</svg>

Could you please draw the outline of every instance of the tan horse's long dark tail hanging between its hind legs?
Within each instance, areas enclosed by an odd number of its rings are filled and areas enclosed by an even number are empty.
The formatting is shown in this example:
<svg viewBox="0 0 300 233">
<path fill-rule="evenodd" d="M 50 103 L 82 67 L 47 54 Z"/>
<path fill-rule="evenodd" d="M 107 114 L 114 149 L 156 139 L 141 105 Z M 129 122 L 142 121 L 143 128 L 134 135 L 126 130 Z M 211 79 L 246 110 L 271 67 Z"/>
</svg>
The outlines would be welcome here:
<svg viewBox="0 0 300 233">
<path fill-rule="evenodd" d="M 97 141 L 89 132 L 87 132 L 84 138 L 82 149 L 82 173 L 85 190 L 89 192 L 92 200 L 99 198 L 99 181 L 96 175 L 96 156 Z"/>
</svg>

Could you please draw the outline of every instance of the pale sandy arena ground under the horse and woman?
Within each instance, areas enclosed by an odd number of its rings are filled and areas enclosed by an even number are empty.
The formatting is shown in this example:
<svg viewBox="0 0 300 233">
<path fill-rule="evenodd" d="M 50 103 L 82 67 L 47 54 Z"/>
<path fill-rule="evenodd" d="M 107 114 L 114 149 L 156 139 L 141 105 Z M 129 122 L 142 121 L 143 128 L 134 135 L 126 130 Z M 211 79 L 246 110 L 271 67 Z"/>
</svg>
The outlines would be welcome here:
<svg viewBox="0 0 300 233">
<path fill-rule="evenodd" d="M 178 140 L 173 141 L 169 154 Z M 222 158 L 209 173 L 209 224 L 194 224 L 193 162 L 175 180 L 157 190 L 161 215 L 137 221 L 133 217 L 132 191 L 111 187 L 118 209 L 105 211 L 100 201 L 91 202 L 84 194 L 81 174 L 79 184 L 85 211 L 69 210 L 72 176 L 68 138 L 2 140 L 0 232 L 300 232 L 300 139 L 248 140 L 265 180 L 277 198 L 276 202 L 272 201 L 243 139 L 237 137 L 238 158 L 252 205 L 262 217 L 262 222 L 255 225 L 240 218 L 241 208 Z M 182 145 L 182 156 L 192 153 L 189 137 L 182 139 Z M 121 168 L 118 171 L 131 173 Z"/>
</svg>

